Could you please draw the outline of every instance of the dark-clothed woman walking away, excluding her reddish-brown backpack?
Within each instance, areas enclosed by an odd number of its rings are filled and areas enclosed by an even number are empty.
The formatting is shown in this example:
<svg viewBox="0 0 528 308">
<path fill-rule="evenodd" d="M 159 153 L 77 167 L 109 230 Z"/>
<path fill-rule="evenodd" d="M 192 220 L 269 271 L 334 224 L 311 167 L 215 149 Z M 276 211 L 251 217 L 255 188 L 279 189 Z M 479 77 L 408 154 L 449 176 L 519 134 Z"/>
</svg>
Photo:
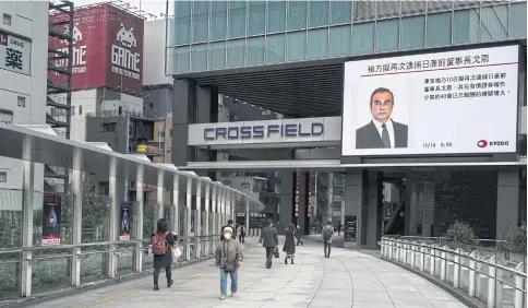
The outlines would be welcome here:
<svg viewBox="0 0 528 308">
<path fill-rule="evenodd" d="M 154 254 L 154 291 L 158 291 L 158 279 L 159 279 L 159 271 L 161 269 L 165 269 L 165 276 L 167 277 L 167 287 L 170 287 L 175 281 L 172 280 L 172 271 L 170 266 L 172 265 L 172 246 L 178 241 L 178 236 L 173 235 L 172 233 L 169 232 L 169 227 L 167 224 L 167 221 L 161 218 L 157 223 L 157 229 L 154 232 L 151 236 L 151 242 L 154 239 L 154 236 L 156 234 L 163 235 L 167 234 L 165 237 L 166 239 L 166 245 L 167 245 L 167 251 L 165 254 Z"/>
</svg>

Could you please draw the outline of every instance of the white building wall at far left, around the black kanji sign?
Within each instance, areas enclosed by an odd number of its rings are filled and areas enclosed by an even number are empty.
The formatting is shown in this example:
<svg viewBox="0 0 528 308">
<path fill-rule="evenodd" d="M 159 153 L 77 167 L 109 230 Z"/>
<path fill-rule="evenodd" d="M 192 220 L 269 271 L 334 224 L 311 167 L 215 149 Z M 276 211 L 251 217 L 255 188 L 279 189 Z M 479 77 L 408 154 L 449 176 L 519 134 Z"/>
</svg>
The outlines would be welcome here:
<svg viewBox="0 0 528 308">
<path fill-rule="evenodd" d="M 12 123 L 46 123 L 46 82 L 48 58 L 48 1 L 0 1 L 0 15 L 11 16 L 11 25 L 0 23 L 0 31 L 31 42 L 29 75 L 0 69 L 0 109 L 3 115 L 12 114 Z M 19 97 L 25 98 L 25 106 L 19 106 Z M 3 117 L 2 117 L 3 118 Z M 0 210 L 22 208 L 22 162 L 0 157 L 0 173 L 5 181 L 0 182 Z M 3 178 L 3 175 L 2 175 Z M 44 166 L 35 166 L 35 190 L 44 191 Z M 36 204 L 41 203 L 37 193 Z"/>
</svg>

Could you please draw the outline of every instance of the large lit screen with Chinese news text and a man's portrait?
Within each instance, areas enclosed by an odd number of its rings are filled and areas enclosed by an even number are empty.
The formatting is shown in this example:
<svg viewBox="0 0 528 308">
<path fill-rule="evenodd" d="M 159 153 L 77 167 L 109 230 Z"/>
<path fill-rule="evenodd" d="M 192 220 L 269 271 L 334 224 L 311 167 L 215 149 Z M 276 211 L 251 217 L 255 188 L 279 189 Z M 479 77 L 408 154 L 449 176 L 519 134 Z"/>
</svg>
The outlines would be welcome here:
<svg viewBox="0 0 528 308">
<path fill-rule="evenodd" d="M 345 63 L 343 156 L 507 153 L 518 47 Z"/>
</svg>

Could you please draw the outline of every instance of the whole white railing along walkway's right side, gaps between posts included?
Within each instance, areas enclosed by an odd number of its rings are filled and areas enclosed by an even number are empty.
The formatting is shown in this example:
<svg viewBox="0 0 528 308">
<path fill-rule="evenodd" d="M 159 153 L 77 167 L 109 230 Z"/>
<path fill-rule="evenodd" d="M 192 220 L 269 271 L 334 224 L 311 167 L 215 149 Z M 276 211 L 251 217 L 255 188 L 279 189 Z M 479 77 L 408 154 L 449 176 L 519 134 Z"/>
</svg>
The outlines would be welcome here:
<svg viewBox="0 0 528 308">
<path fill-rule="evenodd" d="M 515 262 L 505 253 L 487 256 L 427 241 L 431 238 L 383 237 L 381 256 L 440 279 L 490 308 L 526 307 L 526 259 Z"/>
</svg>

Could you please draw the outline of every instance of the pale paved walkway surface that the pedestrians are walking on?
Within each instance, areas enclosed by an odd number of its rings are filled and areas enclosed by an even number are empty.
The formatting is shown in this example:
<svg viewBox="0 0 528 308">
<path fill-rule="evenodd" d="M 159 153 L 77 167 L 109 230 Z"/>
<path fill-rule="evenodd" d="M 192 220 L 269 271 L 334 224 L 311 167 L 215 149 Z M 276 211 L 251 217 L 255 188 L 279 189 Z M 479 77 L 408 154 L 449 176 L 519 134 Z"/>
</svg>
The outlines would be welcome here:
<svg viewBox="0 0 528 308">
<path fill-rule="evenodd" d="M 323 258 L 320 244 L 298 247 L 296 264 L 283 256 L 271 270 L 264 268 L 264 249 L 256 239 L 243 246 L 245 260 L 239 272 L 236 298 L 219 300 L 219 270 L 206 261 L 173 271 L 175 285 L 152 289 L 143 277 L 62 296 L 35 307 L 240 307 L 240 308 L 458 308 L 466 307 L 427 280 L 379 258 L 333 248 Z M 160 275 L 165 281 L 165 275 Z"/>
</svg>

